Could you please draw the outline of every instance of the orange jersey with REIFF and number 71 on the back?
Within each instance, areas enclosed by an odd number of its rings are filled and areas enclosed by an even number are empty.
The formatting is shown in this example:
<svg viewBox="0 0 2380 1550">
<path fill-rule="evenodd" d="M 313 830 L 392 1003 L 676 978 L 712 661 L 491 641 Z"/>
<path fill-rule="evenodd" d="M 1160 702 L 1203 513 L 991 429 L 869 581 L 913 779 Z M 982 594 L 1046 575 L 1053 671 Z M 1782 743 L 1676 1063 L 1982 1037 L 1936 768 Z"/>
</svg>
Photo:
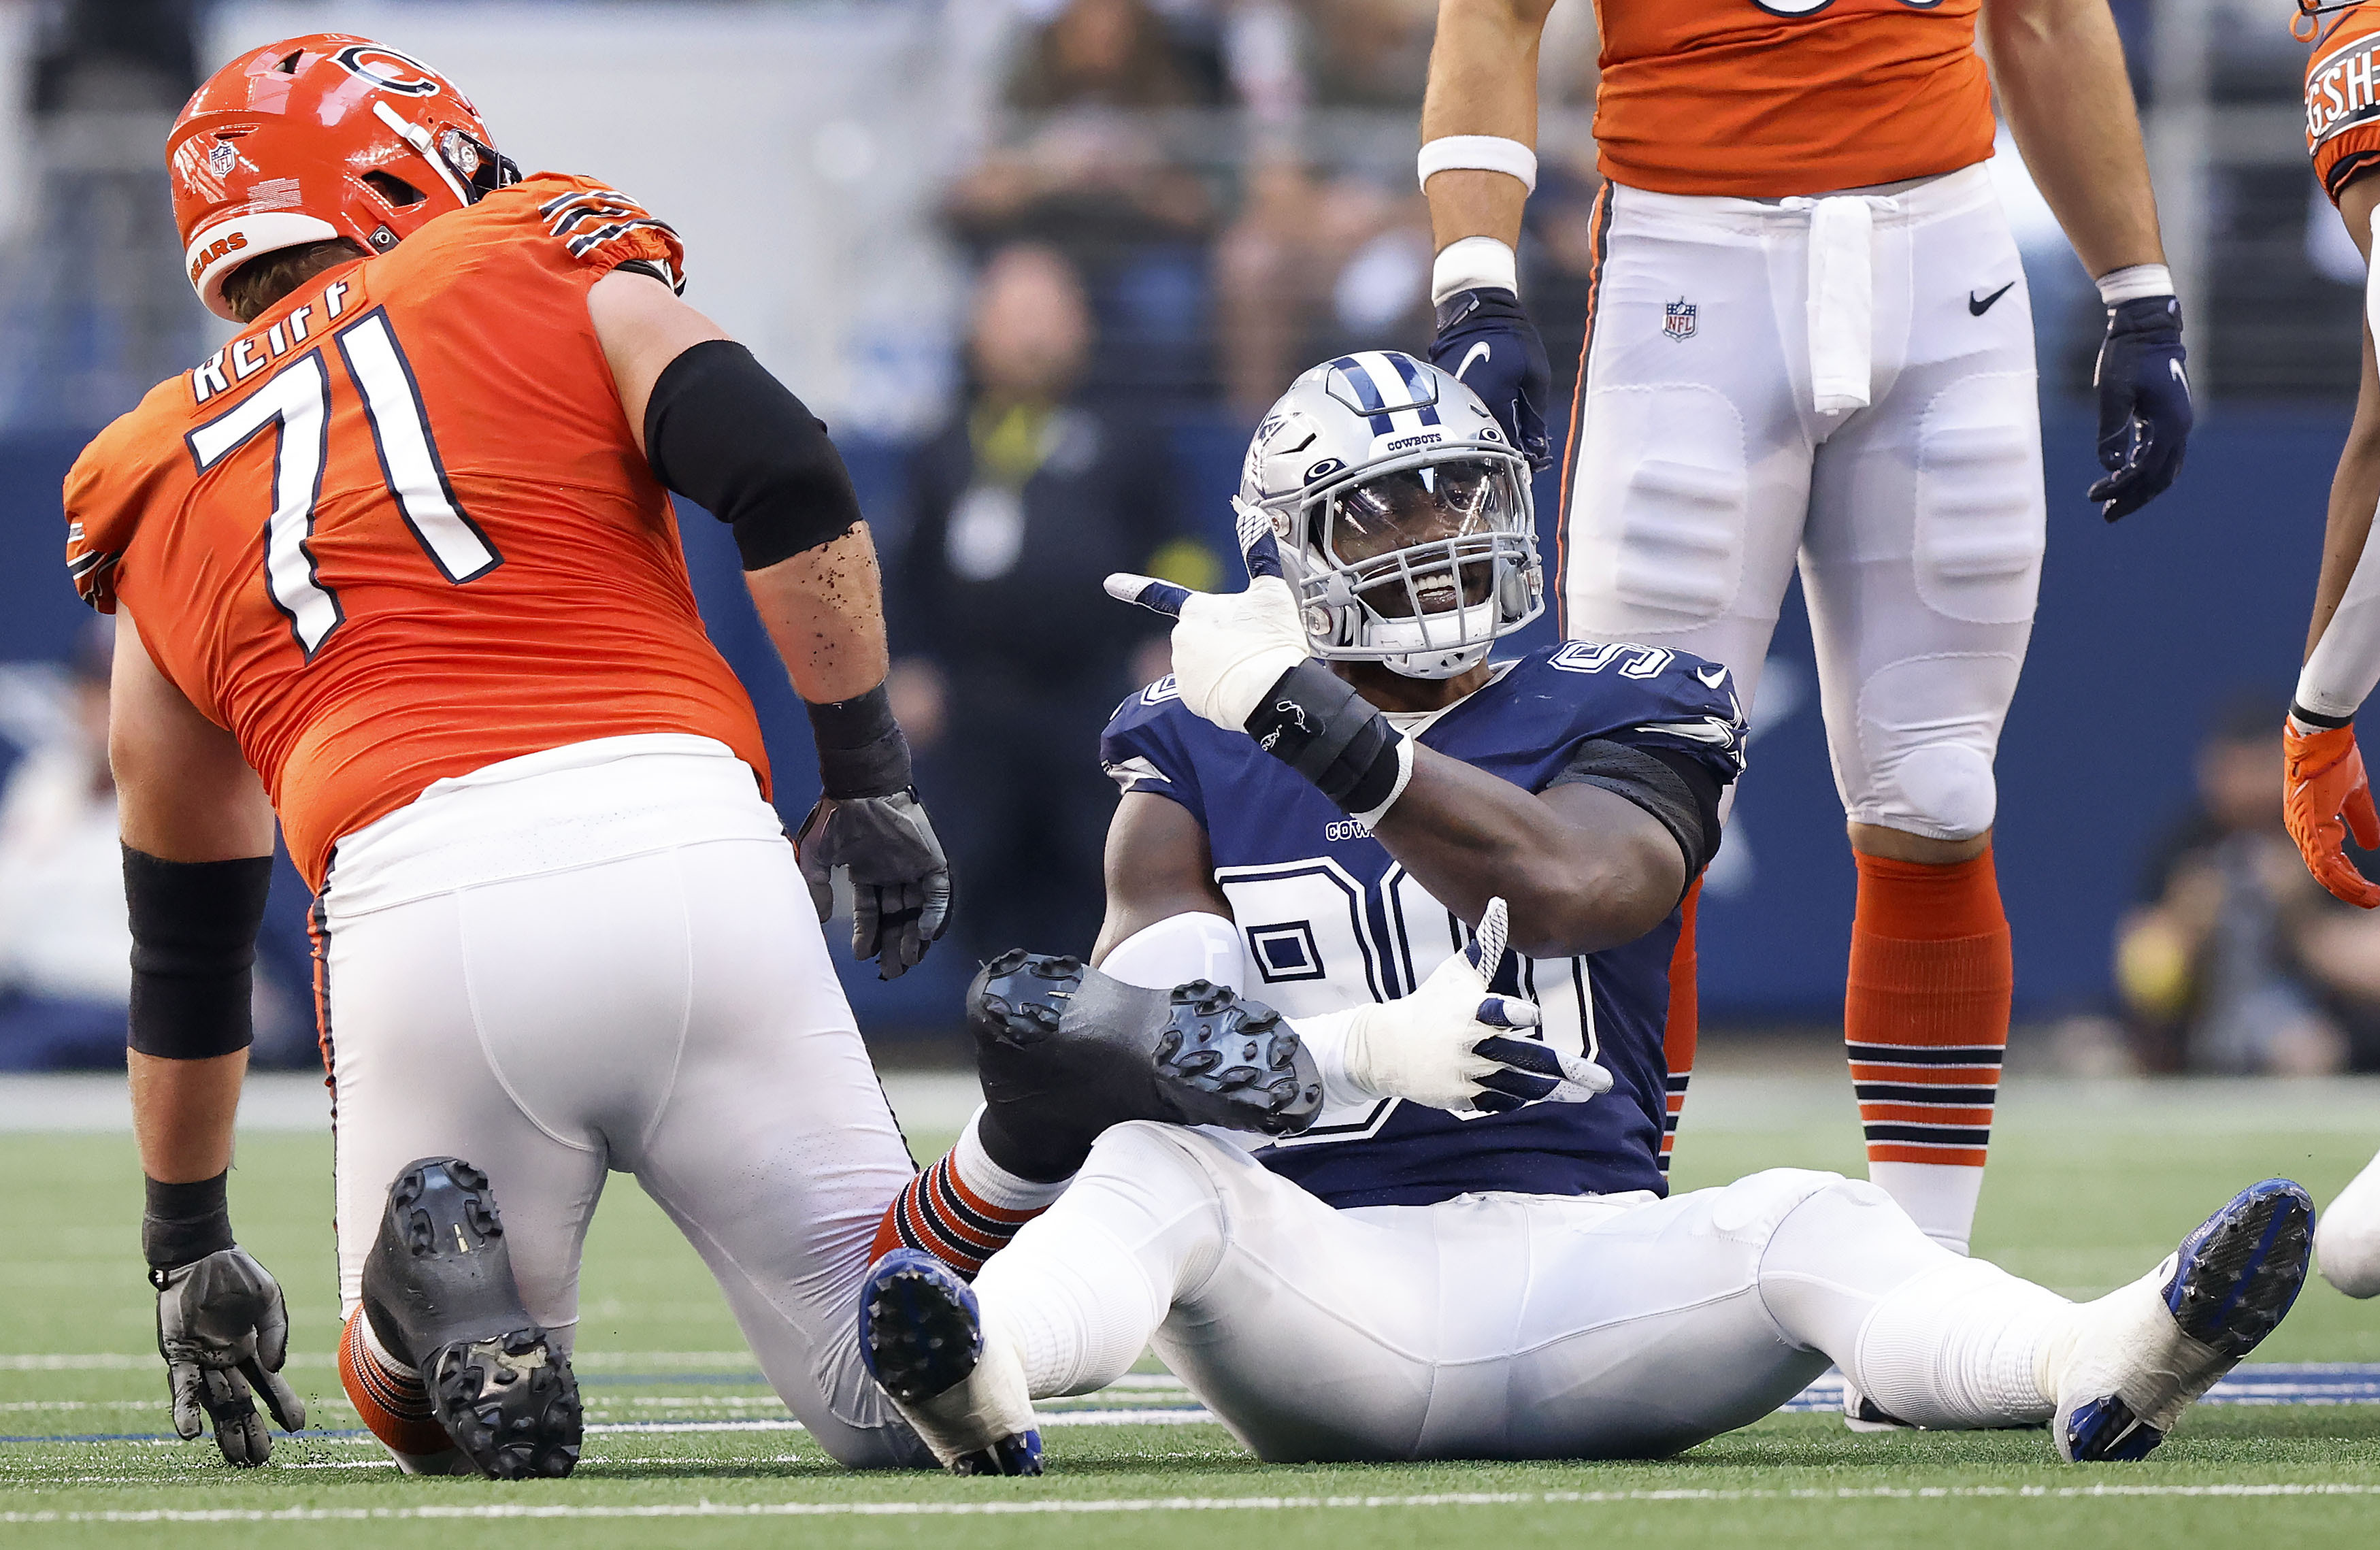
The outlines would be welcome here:
<svg viewBox="0 0 2380 1550">
<path fill-rule="evenodd" d="M 231 729 L 321 886 L 438 779 L 590 738 L 716 738 L 752 702 L 695 614 L 669 493 L 588 319 L 678 238 L 538 174 L 321 274 L 67 474 L 67 564 Z"/>
</svg>

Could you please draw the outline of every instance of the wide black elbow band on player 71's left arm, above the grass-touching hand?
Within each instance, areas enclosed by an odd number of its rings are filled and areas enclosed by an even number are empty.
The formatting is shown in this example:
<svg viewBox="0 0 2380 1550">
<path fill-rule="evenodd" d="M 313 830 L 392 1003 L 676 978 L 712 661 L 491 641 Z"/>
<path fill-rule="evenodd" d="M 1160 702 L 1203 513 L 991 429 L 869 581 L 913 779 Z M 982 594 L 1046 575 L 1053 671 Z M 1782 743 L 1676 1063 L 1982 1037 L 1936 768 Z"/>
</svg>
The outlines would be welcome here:
<svg viewBox="0 0 2380 1550">
<path fill-rule="evenodd" d="M 269 855 L 159 862 L 124 848 L 124 905 L 133 926 L 133 1050 L 212 1060 L 248 1048 L 248 979 L 271 881 Z"/>
</svg>

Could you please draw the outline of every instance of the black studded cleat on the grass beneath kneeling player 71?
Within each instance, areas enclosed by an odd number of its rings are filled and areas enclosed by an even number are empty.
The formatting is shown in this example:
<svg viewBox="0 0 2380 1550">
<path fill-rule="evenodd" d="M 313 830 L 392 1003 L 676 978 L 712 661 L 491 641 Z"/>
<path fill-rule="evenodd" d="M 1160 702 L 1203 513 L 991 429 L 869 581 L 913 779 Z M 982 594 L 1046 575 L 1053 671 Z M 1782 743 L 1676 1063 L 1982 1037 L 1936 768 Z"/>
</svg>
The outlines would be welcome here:
<svg viewBox="0 0 2380 1550">
<path fill-rule="evenodd" d="M 424 1157 L 388 1186 L 364 1260 L 364 1317 L 421 1374 L 474 1469 L 526 1481 L 578 1467 L 578 1379 L 521 1305 L 495 1190 L 476 1167 Z"/>
</svg>

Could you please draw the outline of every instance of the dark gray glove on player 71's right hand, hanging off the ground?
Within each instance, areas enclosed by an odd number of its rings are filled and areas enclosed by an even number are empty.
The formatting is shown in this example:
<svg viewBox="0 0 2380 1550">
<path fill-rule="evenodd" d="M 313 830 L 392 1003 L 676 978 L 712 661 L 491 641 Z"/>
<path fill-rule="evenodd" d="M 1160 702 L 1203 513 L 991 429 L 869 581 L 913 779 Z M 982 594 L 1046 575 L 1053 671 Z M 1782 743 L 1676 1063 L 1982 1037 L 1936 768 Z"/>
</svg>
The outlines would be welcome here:
<svg viewBox="0 0 2380 1550">
<path fill-rule="evenodd" d="M 835 867 L 852 879 L 852 957 L 900 979 L 950 924 L 950 860 L 933 819 L 909 790 L 888 798 L 819 798 L 793 836 L 809 900 L 835 912 Z"/>
</svg>

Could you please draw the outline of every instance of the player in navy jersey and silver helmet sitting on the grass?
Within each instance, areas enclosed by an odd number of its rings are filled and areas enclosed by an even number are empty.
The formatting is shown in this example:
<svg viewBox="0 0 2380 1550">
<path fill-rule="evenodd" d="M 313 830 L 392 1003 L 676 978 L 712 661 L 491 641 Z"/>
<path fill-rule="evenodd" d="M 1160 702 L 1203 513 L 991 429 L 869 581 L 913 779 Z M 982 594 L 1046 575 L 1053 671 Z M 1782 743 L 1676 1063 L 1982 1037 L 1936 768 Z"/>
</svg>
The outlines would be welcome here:
<svg viewBox="0 0 2380 1550">
<path fill-rule="evenodd" d="M 1828 1362 L 1918 1426 L 2054 1419 L 2063 1457 L 2135 1460 L 2280 1321 L 2313 1221 L 2278 1179 L 2087 1305 L 1944 1250 L 1866 1181 L 1664 1200 L 1666 969 L 1742 736 L 1726 669 L 1580 643 L 1488 662 L 1537 612 L 1523 467 L 1468 388 L 1399 355 L 1297 379 L 1240 512 L 1257 579 L 1180 605 L 1176 676 L 1104 740 L 1126 795 L 1097 962 L 1261 993 L 1326 1105 L 1254 1155 L 1119 1124 L 1061 1195 L 985 1155 L 1019 1107 L 990 1105 L 904 1210 L 990 1202 L 1014 1231 L 1054 1205 L 973 1288 L 897 1248 L 862 1305 L 871 1371 L 947 1464 L 1031 1469 L 1031 1398 L 1111 1383 L 1152 1340 L 1264 1460 L 1668 1455 Z M 1490 1102 L 1504 1076 L 1449 1071 L 1440 1102 L 1497 1112 L 1388 1095 L 1421 1093 L 1449 1033 L 1530 1021 L 1514 1000 L 1609 1090 Z"/>
</svg>

